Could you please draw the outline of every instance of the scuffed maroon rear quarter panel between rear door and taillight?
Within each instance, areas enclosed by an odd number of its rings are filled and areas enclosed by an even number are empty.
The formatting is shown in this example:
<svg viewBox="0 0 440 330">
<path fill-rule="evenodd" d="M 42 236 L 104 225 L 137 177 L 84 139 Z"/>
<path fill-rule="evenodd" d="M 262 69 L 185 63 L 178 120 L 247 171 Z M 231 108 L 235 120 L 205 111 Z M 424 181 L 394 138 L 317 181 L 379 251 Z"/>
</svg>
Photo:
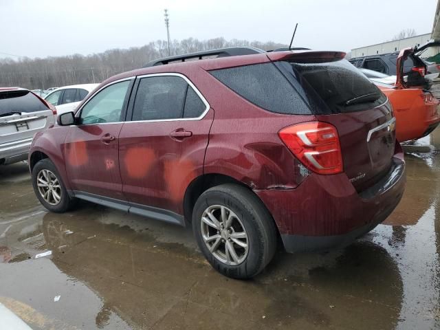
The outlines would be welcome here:
<svg viewBox="0 0 440 330">
<path fill-rule="evenodd" d="M 197 82 L 214 109 L 205 174 L 228 175 L 252 189 L 295 188 L 307 177 L 278 131 L 314 120 L 313 115 L 284 115 L 256 107 L 208 72 Z"/>
</svg>

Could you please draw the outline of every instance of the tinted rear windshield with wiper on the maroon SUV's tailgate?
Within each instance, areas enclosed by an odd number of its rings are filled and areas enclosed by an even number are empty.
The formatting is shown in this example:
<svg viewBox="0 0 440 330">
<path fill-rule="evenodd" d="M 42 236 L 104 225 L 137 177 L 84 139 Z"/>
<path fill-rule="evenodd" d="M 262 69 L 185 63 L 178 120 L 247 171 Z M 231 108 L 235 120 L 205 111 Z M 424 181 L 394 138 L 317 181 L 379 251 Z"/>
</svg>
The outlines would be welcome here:
<svg viewBox="0 0 440 330">
<path fill-rule="evenodd" d="M 386 101 L 382 91 L 347 60 L 276 65 L 315 114 L 362 111 Z"/>
</svg>

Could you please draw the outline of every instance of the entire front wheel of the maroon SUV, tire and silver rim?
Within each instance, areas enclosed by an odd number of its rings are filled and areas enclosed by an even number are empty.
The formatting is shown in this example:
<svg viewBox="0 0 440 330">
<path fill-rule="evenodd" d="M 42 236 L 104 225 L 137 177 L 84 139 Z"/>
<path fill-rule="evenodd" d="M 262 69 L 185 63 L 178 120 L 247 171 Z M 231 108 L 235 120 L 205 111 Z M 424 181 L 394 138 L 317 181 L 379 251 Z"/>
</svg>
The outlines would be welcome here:
<svg viewBox="0 0 440 330">
<path fill-rule="evenodd" d="M 32 186 L 40 203 L 51 212 L 66 212 L 76 204 L 76 199 L 69 197 L 61 175 L 48 158 L 41 159 L 32 169 Z"/>
</svg>

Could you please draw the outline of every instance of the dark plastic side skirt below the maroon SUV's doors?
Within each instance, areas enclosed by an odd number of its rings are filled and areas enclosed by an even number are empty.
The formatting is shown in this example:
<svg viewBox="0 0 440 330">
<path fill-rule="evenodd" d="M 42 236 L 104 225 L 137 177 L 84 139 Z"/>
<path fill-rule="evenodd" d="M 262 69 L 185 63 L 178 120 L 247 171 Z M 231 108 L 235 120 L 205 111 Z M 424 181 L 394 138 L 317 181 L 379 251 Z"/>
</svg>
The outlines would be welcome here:
<svg viewBox="0 0 440 330">
<path fill-rule="evenodd" d="M 84 199 L 85 201 L 91 201 L 92 203 L 107 206 L 108 208 L 115 208 L 116 210 L 141 215 L 151 219 L 157 219 L 160 221 L 173 223 L 175 225 L 181 225 L 185 227 L 184 217 L 170 210 L 164 210 L 163 208 L 155 208 L 153 206 L 146 206 L 137 203 L 130 203 L 128 201 L 121 201 L 120 199 L 113 199 L 100 195 L 90 194 L 89 192 L 83 192 L 78 190 L 68 191 L 71 197 Z"/>
</svg>

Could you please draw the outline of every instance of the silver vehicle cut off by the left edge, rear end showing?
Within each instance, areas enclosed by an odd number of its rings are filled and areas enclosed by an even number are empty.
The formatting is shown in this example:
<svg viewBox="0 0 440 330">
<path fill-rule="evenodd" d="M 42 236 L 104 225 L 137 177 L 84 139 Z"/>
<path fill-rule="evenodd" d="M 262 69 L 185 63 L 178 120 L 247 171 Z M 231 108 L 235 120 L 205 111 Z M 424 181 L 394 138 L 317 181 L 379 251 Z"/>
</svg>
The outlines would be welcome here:
<svg viewBox="0 0 440 330">
<path fill-rule="evenodd" d="M 54 122 L 50 104 L 32 91 L 0 88 L 0 164 L 28 159 L 34 134 Z"/>
</svg>

